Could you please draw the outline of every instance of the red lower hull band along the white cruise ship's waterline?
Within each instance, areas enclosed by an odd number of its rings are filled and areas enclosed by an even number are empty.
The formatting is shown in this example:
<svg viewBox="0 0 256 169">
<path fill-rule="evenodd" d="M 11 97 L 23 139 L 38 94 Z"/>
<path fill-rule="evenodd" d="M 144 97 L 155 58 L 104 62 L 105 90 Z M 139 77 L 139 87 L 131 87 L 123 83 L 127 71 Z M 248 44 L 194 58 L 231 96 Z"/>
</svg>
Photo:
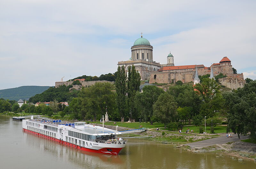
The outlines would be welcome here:
<svg viewBox="0 0 256 169">
<path fill-rule="evenodd" d="M 119 151 L 121 151 L 121 149 L 122 149 L 122 148 L 108 148 L 108 147 L 106 147 L 106 148 L 102 148 L 102 149 L 99 149 L 99 150 L 94 150 L 94 149 L 85 148 L 85 147 L 82 147 L 82 146 L 79 146 L 79 145 L 76 145 L 76 144 L 72 144 L 72 143 L 69 143 L 69 142 L 65 142 L 65 141 L 62 141 L 62 140 L 54 138 L 54 137 L 46 136 L 44 134 L 37 133 L 35 131 L 31 131 L 31 130 L 28 130 L 28 129 L 23 129 L 23 131 L 31 133 L 31 134 L 34 134 L 34 135 L 37 135 L 37 136 L 41 136 L 41 137 L 47 138 L 49 140 L 58 142 L 58 143 L 60 143 L 62 145 L 67 145 L 67 146 L 70 146 L 70 147 L 74 147 L 74 148 L 76 148 L 78 150 L 83 150 L 83 151 L 88 151 L 88 152 L 96 152 L 96 153 L 102 153 L 102 154 L 114 154 L 114 155 L 117 155 L 119 153 Z M 111 149 L 112 151 L 110 152 L 107 149 Z"/>
</svg>

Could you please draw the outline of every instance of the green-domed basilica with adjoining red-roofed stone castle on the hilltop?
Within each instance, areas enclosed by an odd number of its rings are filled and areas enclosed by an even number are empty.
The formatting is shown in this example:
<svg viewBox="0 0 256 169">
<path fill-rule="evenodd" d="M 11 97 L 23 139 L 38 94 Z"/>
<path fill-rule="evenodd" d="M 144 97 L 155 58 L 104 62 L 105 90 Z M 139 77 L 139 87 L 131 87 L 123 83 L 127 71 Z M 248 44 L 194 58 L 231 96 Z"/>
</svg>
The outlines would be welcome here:
<svg viewBox="0 0 256 169">
<path fill-rule="evenodd" d="M 177 81 L 198 83 L 198 76 L 211 74 L 211 77 L 214 78 L 220 73 L 226 76 L 219 79 L 221 85 L 237 89 L 243 87 L 245 83 L 243 73 L 233 74 L 231 61 L 228 57 L 223 57 L 220 62 L 213 63 L 210 67 L 203 64 L 174 66 L 174 57 L 170 53 L 167 55 L 167 63 L 160 64 L 153 60 L 153 46 L 142 37 L 142 34 L 131 47 L 130 59 L 118 62 L 118 66 L 124 66 L 127 75 L 128 68 L 132 65 L 140 73 L 141 80 L 149 80 L 150 84 L 169 84 Z"/>
</svg>

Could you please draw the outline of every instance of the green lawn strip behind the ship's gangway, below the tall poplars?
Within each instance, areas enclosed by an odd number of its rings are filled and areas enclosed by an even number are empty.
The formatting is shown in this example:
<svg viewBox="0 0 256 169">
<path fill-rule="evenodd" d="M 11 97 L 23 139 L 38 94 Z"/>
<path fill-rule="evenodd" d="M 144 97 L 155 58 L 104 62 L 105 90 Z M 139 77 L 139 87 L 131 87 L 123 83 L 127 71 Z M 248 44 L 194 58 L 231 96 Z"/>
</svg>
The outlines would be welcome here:
<svg viewBox="0 0 256 169">
<path fill-rule="evenodd" d="M 90 123 L 97 123 L 97 124 L 102 124 L 102 122 L 100 123 L 100 121 L 88 121 Z M 132 129 L 139 129 L 140 128 L 140 125 L 142 125 L 142 127 L 146 127 L 146 128 L 149 128 L 149 129 L 152 129 L 152 128 L 161 128 L 161 127 L 164 127 L 164 124 L 162 123 L 153 123 L 153 125 L 150 125 L 150 123 L 139 123 L 139 122 L 132 122 L 132 123 L 128 123 L 128 122 L 120 122 L 120 121 L 117 121 L 116 124 L 114 124 L 114 122 L 105 122 L 104 124 L 106 125 L 113 125 L 113 126 L 119 126 L 119 127 L 129 127 L 129 128 L 132 128 Z"/>
</svg>

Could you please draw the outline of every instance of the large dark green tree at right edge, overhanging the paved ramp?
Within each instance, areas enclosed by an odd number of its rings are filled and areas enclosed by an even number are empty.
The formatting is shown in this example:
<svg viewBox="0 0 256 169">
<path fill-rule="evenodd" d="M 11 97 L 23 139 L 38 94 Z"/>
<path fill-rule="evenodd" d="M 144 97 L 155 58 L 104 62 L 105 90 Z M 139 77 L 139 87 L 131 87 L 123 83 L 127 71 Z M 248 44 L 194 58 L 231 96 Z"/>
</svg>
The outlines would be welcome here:
<svg viewBox="0 0 256 169">
<path fill-rule="evenodd" d="M 250 139 L 256 141 L 256 80 L 235 92 L 226 92 L 224 98 L 228 111 L 227 132 L 231 129 L 239 137 L 250 132 Z"/>
</svg>

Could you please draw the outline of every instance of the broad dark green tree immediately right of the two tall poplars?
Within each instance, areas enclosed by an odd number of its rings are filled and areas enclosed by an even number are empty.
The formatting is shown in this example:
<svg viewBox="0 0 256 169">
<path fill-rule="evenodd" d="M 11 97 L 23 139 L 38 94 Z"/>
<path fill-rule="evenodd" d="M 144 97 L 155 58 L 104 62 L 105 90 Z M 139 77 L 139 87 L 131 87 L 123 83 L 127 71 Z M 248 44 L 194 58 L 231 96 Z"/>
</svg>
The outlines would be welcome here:
<svg viewBox="0 0 256 169">
<path fill-rule="evenodd" d="M 137 92 L 135 95 L 135 105 L 141 111 L 143 118 L 150 119 L 150 124 L 153 125 L 153 105 L 156 103 L 160 94 L 164 90 L 157 86 L 147 85 L 143 88 L 143 92 Z"/>
</svg>

